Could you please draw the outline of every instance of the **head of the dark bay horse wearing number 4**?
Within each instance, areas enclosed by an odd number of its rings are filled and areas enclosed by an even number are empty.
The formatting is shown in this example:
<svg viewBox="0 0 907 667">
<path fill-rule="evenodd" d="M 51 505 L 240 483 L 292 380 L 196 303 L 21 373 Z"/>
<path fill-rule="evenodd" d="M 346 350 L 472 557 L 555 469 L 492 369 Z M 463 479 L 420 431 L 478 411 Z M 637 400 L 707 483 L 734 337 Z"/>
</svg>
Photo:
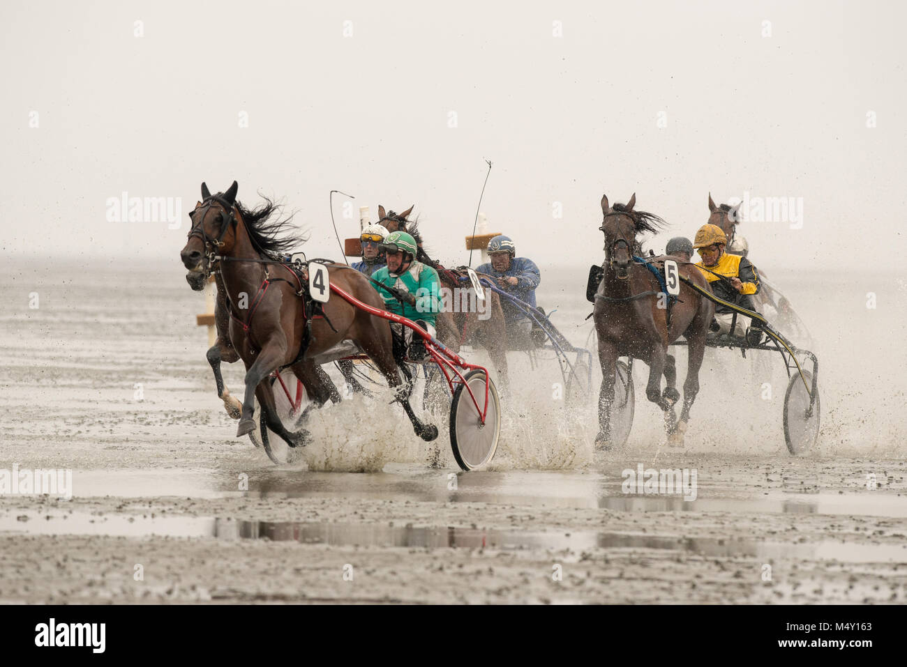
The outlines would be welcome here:
<svg viewBox="0 0 907 667">
<path fill-rule="evenodd" d="M 180 258 L 189 273 L 186 282 L 195 291 L 205 286 L 205 280 L 211 273 L 215 257 L 229 252 L 236 240 L 236 216 L 233 206 L 236 203 L 236 192 L 239 189 L 234 180 L 226 192 L 212 195 L 208 186 L 201 184 L 201 201 L 189 214 L 191 221 L 189 240 L 180 252 Z M 230 227 L 234 233 L 229 234 Z"/>
</svg>

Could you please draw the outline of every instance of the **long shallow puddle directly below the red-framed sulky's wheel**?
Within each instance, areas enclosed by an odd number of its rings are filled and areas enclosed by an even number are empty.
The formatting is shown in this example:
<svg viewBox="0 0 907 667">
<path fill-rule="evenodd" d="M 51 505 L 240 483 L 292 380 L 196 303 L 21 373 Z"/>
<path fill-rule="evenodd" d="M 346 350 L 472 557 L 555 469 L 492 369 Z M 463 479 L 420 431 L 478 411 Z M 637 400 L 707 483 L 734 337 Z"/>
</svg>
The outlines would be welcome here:
<svg viewBox="0 0 907 667">
<path fill-rule="evenodd" d="M 615 478 L 595 472 L 472 472 L 422 466 L 388 466 L 386 472 L 354 474 L 266 469 L 249 472 L 249 490 L 238 474 L 210 469 L 73 470 L 79 498 L 360 498 L 438 503 L 493 503 L 517 507 L 602 507 L 627 512 L 748 512 L 865 517 L 907 517 L 907 497 L 891 493 L 790 493 L 761 496 L 747 488 L 699 483 L 697 498 L 625 495 Z"/>
</svg>

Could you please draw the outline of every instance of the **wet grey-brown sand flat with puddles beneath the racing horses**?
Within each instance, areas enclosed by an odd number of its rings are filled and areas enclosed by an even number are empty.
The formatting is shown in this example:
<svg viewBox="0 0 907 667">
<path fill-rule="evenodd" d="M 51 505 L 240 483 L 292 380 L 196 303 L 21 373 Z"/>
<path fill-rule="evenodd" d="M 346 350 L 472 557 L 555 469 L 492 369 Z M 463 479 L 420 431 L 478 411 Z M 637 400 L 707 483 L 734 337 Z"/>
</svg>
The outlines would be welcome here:
<svg viewBox="0 0 907 667">
<path fill-rule="evenodd" d="M 3 277 L 0 469 L 72 469 L 73 498 L 0 495 L 0 602 L 907 596 L 904 364 L 884 352 L 899 349 L 886 347 L 904 310 L 896 287 L 876 321 L 853 306 L 834 325 L 809 285 L 785 290 L 824 333 L 823 430 L 810 454 L 787 453 L 778 391 L 756 399 L 765 378 L 736 358 L 711 362 L 720 368 L 703 377 L 683 450 L 664 446 L 639 375 L 634 430 L 614 452 L 591 449 L 594 397 L 566 411 L 551 398 L 558 373 L 516 359 L 514 377 L 532 382 L 508 398 L 495 465 L 461 473 L 446 434 L 426 446 L 384 404 L 319 415 L 319 444 L 286 466 L 234 438 L 194 325 L 203 299 L 178 266 L 14 265 Z M 551 280 L 540 303 L 582 342 L 588 309 L 572 287 Z M 864 331 L 878 350 L 847 354 Z M 728 369 L 742 378 L 732 387 L 716 374 Z M 238 393 L 239 365 L 224 372 Z M 369 415 L 369 430 L 356 428 Z M 639 464 L 696 469 L 696 498 L 624 493 L 623 470 Z M 346 471 L 356 466 L 374 471 Z"/>
</svg>

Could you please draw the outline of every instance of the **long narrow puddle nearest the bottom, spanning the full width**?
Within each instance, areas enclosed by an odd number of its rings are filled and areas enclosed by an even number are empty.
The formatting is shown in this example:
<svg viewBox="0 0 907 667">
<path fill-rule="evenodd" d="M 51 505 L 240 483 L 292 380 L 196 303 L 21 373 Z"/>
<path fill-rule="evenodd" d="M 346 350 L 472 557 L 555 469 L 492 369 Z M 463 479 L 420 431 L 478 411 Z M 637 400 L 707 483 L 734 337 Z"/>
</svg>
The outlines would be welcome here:
<svg viewBox="0 0 907 667">
<path fill-rule="evenodd" d="M 658 549 L 699 556 L 809 558 L 848 563 L 907 563 L 907 544 L 853 545 L 824 540 L 783 543 L 753 539 L 649 536 L 597 531 L 520 532 L 459 527 L 413 527 L 388 524 L 237 521 L 210 517 L 137 517 L 83 512 L 42 514 L 10 512 L 0 517 L 0 531 L 28 535 L 104 535 L 214 537 L 223 540 L 268 539 L 305 545 L 399 548 L 551 550 L 578 560 L 584 550 Z"/>
</svg>

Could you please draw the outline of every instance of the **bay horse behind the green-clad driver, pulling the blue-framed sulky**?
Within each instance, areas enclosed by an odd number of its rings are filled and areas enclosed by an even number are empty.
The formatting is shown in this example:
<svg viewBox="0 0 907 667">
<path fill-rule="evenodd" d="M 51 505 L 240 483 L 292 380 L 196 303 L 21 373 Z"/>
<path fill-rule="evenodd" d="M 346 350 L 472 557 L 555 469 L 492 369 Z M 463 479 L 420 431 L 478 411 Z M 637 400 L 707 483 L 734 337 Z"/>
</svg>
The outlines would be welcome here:
<svg viewBox="0 0 907 667">
<path fill-rule="evenodd" d="M 385 211 L 385 208 L 379 204 L 378 222 L 386 227 L 389 232 L 404 231 L 412 236 L 415 239 L 417 248 L 416 260 L 434 268 L 438 272 L 438 278 L 444 287 L 452 291 L 454 289 L 469 289 L 471 284 L 460 279 L 460 272 L 445 268 L 440 262 L 428 256 L 424 249 L 424 240 L 418 221 L 409 219 L 413 208 L 414 206 L 411 206 L 402 213 L 395 213 L 393 210 Z M 490 275 L 480 275 L 480 277 L 487 277 L 494 282 L 494 278 Z M 460 293 L 453 292 L 453 295 L 458 294 Z M 444 311 L 438 314 L 435 328 L 438 331 L 438 340 L 451 348 L 454 353 L 459 353 L 463 344 L 475 343 L 485 348 L 494 364 L 495 371 L 498 373 L 502 392 L 506 392 L 509 386 L 507 373 L 507 324 L 504 320 L 501 297 L 488 289 L 485 290 L 485 299 L 488 307 L 487 318 L 480 318 L 478 312 L 473 312 L 471 309 L 466 313 Z"/>
</svg>

